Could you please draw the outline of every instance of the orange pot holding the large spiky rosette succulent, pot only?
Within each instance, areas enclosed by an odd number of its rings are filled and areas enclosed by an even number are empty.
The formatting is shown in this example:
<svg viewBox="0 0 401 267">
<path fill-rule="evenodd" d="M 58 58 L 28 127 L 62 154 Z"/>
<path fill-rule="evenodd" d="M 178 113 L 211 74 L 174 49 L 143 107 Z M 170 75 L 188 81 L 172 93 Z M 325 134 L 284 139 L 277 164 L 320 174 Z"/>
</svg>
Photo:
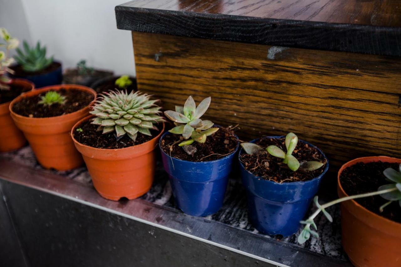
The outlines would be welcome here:
<svg viewBox="0 0 401 267">
<path fill-rule="evenodd" d="M 148 142 L 120 149 L 85 146 L 75 140 L 75 128 L 92 116 L 78 121 L 71 130 L 75 147 L 83 156 L 97 192 L 110 200 L 138 198 L 149 191 L 156 165 L 156 147 L 162 132 Z"/>
</svg>

